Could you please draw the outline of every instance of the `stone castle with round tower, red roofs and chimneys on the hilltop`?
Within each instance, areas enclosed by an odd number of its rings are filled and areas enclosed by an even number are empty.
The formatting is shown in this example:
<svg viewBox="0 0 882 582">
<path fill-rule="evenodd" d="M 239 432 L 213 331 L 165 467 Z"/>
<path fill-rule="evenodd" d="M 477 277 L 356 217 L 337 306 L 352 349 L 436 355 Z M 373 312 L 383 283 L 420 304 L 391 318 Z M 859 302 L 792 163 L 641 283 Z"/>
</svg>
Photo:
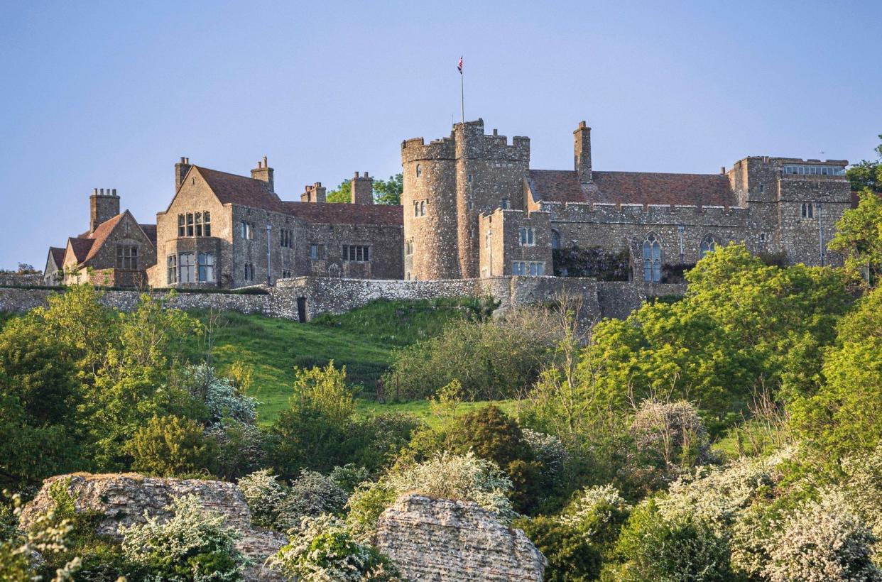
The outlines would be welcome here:
<svg viewBox="0 0 882 582">
<path fill-rule="evenodd" d="M 550 276 L 554 250 L 599 247 L 628 257 L 629 280 L 652 284 L 731 241 L 786 264 L 840 260 L 826 242 L 852 205 L 846 160 L 754 156 L 719 174 L 595 171 L 591 128 L 579 123 L 573 136 L 571 170 L 531 169 L 529 138 L 486 135 L 480 119 L 429 144 L 407 139 L 401 205 L 373 204 L 367 172 L 355 173 L 350 204 L 327 203 L 321 183 L 289 201 L 266 158 L 250 176 L 182 158 L 155 225 L 120 213 L 116 190 L 94 190 L 90 229 L 50 248 L 46 280 L 247 287 L 304 275 Z"/>
</svg>

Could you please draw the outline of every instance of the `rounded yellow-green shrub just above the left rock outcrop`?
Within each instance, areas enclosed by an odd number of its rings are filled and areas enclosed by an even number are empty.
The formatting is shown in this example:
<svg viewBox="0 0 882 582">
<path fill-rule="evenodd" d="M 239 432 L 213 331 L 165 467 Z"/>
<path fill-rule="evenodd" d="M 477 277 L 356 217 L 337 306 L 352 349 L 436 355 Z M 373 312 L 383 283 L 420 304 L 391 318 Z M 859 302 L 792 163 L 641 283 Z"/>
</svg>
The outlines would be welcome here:
<svg viewBox="0 0 882 582">
<path fill-rule="evenodd" d="M 177 416 L 153 416 L 138 429 L 129 450 L 132 468 L 162 477 L 196 473 L 211 459 L 205 429 Z"/>
</svg>

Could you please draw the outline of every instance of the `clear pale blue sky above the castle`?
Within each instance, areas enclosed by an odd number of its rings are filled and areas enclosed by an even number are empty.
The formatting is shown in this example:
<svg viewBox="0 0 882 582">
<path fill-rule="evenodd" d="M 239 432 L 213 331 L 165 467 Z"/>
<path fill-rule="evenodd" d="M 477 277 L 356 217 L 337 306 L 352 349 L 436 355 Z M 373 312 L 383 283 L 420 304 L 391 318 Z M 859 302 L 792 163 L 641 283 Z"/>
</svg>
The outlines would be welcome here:
<svg viewBox="0 0 882 582">
<path fill-rule="evenodd" d="M 613 7 L 615 6 L 615 7 Z M 747 155 L 871 158 L 882 3 L 0 4 L 0 267 L 44 265 L 94 187 L 155 221 L 180 156 L 276 191 L 400 171 L 466 116 L 533 168 L 718 172 Z"/>
</svg>

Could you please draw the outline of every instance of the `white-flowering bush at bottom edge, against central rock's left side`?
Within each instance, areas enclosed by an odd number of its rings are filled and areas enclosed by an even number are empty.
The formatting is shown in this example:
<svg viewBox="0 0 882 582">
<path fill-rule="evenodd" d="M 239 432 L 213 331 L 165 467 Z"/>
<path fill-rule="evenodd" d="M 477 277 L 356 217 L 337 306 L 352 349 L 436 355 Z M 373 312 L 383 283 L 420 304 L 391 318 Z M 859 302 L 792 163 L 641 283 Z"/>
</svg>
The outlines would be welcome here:
<svg viewBox="0 0 882 582">
<path fill-rule="evenodd" d="M 387 558 L 355 541 L 348 526 L 332 515 L 303 518 L 288 531 L 288 545 L 269 560 L 288 579 L 303 582 L 383 582 L 399 580 Z"/>
</svg>

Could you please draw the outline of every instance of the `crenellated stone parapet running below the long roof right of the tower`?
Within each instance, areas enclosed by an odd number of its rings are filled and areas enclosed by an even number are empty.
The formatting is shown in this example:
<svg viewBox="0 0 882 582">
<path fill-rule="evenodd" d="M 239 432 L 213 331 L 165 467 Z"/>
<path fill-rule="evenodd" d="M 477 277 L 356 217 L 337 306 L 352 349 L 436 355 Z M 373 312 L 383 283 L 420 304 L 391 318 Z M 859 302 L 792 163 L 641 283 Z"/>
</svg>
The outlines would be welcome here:
<svg viewBox="0 0 882 582">
<path fill-rule="evenodd" d="M 655 205 L 586 202 L 545 202 L 552 222 L 598 224 L 682 224 L 746 227 L 748 209 L 718 205 Z"/>
</svg>

